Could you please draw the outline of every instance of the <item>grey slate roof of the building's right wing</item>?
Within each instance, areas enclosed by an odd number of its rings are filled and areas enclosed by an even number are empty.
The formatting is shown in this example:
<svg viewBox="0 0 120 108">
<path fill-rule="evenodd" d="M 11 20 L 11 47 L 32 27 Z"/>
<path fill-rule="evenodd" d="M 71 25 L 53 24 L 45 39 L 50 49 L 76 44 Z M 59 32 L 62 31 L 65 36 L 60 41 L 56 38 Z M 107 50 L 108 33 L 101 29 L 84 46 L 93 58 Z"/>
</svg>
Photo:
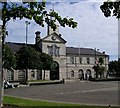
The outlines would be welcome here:
<svg viewBox="0 0 120 108">
<path fill-rule="evenodd" d="M 92 48 L 75 48 L 75 47 L 66 47 L 66 54 L 68 55 L 99 55 L 99 56 L 103 56 L 107 54 L 105 53 L 101 53 L 99 51 L 95 51 Z"/>
</svg>

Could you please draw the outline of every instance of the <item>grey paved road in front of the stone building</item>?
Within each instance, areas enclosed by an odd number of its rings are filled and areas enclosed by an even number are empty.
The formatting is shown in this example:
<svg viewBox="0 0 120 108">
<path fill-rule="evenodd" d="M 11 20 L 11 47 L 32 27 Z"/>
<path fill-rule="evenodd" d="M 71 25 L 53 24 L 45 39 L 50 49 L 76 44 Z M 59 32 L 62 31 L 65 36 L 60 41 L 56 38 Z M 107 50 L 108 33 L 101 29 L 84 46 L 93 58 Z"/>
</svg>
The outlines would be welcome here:
<svg viewBox="0 0 120 108">
<path fill-rule="evenodd" d="M 80 82 L 5 90 L 5 95 L 49 101 L 118 105 L 118 82 Z M 119 88 L 120 89 L 120 88 Z"/>
</svg>

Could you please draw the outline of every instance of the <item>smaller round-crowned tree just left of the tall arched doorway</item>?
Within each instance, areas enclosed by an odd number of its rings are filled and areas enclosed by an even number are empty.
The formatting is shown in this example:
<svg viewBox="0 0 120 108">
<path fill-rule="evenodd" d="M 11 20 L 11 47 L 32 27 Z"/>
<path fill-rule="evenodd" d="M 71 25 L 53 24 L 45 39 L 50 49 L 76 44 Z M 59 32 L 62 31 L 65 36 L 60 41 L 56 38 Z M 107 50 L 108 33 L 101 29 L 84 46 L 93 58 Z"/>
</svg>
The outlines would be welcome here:
<svg viewBox="0 0 120 108">
<path fill-rule="evenodd" d="M 46 53 L 41 53 L 39 55 L 39 60 L 42 63 L 42 69 L 44 70 L 44 78 L 43 79 L 45 80 L 45 70 L 50 70 L 51 65 L 53 63 L 53 58 Z"/>
</svg>

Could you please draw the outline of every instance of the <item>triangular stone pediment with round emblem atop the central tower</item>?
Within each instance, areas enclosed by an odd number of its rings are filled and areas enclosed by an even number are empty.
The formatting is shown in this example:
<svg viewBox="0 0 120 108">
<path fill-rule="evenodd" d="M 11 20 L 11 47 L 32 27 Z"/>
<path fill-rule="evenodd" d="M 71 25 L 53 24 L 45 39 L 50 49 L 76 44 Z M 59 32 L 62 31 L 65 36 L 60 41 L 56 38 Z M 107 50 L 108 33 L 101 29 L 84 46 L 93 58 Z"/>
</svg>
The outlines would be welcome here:
<svg viewBox="0 0 120 108">
<path fill-rule="evenodd" d="M 66 43 L 66 41 L 61 37 L 60 34 L 52 33 L 42 39 L 42 41 L 47 42 L 58 42 L 58 43 Z"/>
</svg>

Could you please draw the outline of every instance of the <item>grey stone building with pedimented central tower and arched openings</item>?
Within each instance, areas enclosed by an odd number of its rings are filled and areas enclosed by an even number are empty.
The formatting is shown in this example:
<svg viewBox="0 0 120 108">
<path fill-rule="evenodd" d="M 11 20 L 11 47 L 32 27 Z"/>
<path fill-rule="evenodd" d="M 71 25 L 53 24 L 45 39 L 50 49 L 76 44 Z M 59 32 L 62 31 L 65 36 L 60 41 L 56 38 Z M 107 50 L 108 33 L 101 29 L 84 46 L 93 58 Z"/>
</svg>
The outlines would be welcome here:
<svg viewBox="0 0 120 108">
<path fill-rule="evenodd" d="M 61 80 L 61 79 L 88 79 L 90 76 L 95 77 L 95 71 L 93 66 L 99 58 L 103 58 L 104 67 L 106 71 L 108 69 L 109 55 L 105 52 L 96 51 L 92 48 L 78 48 L 78 47 L 67 47 L 67 41 L 63 39 L 59 33 L 59 26 L 55 31 L 51 27 L 48 27 L 47 36 L 41 38 L 40 32 L 35 33 L 35 44 L 29 44 L 30 46 L 37 45 L 40 52 L 44 52 L 53 57 L 53 65 L 56 67 L 54 70 L 47 70 L 45 72 L 46 80 Z M 11 43 L 6 44 L 16 52 L 24 44 L 22 43 Z M 104 72 L 103 77 L 106 76 L 107 72 Z M 8 80 L 24 80 L 24 70 L 6 70 L 5 78 Z M 42 80 L 44 72 L 42 70 L 29 70 L 28 80 Z"/>
</svg>

